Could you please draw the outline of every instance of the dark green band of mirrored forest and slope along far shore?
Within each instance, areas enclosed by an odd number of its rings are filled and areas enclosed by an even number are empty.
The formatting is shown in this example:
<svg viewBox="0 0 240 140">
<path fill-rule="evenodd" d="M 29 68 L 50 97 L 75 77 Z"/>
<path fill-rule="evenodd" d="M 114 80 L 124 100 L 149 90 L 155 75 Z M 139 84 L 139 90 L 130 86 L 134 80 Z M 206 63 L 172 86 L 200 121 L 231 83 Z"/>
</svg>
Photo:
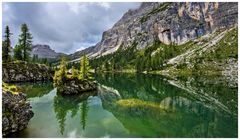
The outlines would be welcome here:
<svg viewBox="0 0 240 140">
<path fill-rule="evenodd" d="M 166 97 L 184 97 L 237 114 L 237 87 L 229 87 L 221 77 L 189 77 L 172 80 L 158 75 L 102 74 L 99 83 L 117 90 L 122 98 L 161 102 Z"/>
</svg>

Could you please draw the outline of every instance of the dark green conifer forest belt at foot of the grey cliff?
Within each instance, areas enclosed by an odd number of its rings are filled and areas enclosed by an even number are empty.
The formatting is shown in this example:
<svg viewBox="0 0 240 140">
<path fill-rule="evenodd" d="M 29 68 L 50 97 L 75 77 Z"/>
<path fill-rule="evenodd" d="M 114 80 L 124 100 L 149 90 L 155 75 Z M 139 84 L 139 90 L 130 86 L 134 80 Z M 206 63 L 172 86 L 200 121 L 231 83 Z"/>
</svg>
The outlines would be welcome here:
<svg viewBox="0 0 240 140">
<path fill-rule="evenodd" d="M 180 53 L 176 45 L 165 45 L 159 40 L 144 49 L 137 49 L 137 43 L 116 52 L 90 60 L 95 71 L 135 70 L 137 72 L 161 70 L 166 61 Z"/>
</svg>

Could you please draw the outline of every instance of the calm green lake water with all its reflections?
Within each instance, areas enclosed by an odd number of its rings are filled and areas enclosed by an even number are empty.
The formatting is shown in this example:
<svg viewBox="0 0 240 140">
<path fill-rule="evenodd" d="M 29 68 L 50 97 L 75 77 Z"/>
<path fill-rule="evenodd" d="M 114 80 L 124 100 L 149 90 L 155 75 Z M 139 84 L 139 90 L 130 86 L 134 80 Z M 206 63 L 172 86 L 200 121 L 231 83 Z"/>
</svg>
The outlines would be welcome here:
<svg viewBox="0 0 240 140">
<path fill-rule="evenodd" d="M 9 137 L 237 137 L 237 87 L 219 78 L 96 75 L 97 92 L 23 84 L 34 117 Z"/>
</svg>

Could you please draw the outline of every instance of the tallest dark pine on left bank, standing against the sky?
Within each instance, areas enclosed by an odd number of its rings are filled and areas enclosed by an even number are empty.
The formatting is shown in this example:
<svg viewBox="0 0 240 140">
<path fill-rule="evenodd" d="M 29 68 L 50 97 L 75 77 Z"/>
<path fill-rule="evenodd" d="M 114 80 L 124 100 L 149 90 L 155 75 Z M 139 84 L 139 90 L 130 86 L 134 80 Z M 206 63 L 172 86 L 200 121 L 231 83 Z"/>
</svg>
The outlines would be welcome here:
<svg viewBox="0 0 240 140">
<path fill-rule="evenodd" d="M 29 59 L 29 51 L 32 50 L 32 35 L 29 32 L 27 24 L 22 24 L 21 26 L 21 34 L 19 35 L 18 44 L 22 49 L 22 59 L 24 61 L 28 61 Z"/>
</svg>

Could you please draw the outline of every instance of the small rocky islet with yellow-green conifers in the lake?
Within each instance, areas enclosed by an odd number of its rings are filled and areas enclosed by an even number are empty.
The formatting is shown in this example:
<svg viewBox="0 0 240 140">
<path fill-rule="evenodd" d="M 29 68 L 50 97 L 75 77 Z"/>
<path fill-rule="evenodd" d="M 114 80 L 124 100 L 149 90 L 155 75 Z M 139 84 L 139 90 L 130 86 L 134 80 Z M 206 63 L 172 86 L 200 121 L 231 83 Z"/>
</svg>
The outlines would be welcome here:
<svg viewBox="0 0 240 140">
<path fill-rule="evenodd" d="M 66 62 L 62 59 L 53 78 L 58 93 L 70 95 L 97 90 L 97 83 L 90 76 L 91 68 L 85 55 L 80 59 L 80 64 L 80 72 L 74 67 L 67 71 Z"/>
</svg>

